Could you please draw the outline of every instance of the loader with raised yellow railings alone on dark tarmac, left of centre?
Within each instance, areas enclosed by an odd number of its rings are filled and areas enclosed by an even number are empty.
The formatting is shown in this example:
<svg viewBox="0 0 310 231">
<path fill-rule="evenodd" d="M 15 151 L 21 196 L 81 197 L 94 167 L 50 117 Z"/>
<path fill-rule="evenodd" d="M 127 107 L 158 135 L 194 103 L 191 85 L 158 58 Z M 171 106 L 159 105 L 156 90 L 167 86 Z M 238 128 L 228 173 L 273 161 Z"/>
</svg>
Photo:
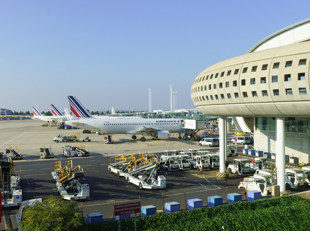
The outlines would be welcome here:
<svg viewBox="0 0 310 231">
<path fill-rule="evenodd" d="M 81 200 L 89 198 L 89 184 L 80 183 L 80 178 L 84 176 L 80 165 L 73 167 L 72 161 L 67 161 L 64 168 L 60 161 L 54 163 L 52 178 L 56 182 L 57 191 L 64 200 Z"/>
</svg>

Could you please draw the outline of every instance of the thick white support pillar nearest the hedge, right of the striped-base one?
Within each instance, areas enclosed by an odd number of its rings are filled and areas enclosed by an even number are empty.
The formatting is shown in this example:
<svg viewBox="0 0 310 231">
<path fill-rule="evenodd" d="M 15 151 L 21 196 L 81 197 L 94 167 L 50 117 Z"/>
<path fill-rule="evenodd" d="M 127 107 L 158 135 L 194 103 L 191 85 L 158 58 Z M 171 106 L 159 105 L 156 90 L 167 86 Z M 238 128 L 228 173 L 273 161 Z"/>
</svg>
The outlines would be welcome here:
<svg viewBox="0 0 310 231">
<path fill-rule="evenodd" d="M 285 193 L 285 118 L 277 117 L 276 166 L 280 193 Z"/>
</svg>

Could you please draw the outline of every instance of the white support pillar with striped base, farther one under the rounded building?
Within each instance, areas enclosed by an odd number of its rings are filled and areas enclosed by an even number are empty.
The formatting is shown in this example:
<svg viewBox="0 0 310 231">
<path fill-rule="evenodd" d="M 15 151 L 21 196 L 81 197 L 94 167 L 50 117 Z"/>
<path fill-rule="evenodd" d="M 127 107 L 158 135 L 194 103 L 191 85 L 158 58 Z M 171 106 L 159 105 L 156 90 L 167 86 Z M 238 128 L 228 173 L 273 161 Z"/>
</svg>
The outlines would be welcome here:
<svg viewBox="0 0 310 231">
<path fill-rule="evenodd" d="M 225 142 L 225 133 L 227 133 L 227 130 L 225 130 L 225 118 L 227 117 L 219 117 L 219 172 L 216 173 L 217 179 L 223 180 L 228 179 L 228 173 L 225 172 L 225 149 L 227 149 L 227 140 Z"/>
</svg>

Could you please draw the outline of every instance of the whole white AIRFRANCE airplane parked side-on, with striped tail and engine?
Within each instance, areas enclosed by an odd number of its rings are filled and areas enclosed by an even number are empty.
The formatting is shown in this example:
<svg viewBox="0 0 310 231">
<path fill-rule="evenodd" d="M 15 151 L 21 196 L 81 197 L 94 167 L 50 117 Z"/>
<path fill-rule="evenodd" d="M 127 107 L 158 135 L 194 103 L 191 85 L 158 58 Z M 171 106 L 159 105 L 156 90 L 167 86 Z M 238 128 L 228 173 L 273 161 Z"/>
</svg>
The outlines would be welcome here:
<svg viewBox="0 0 310 231">
<path fill-rule="evenodd" d="M 181 119 L 104 119 L 98 120 L 91 116 L 85 107 L 75 96 L 68 96 L 73 120 L 67 120 L 66 125 L 77 128 L 97 131 L 106 134 L 132 134 L 131 138 L 136 139 L 136 135 L 142 135 L 140 140 L 146 141 L 145 136 L 157 139 L 168 139 L 170 133 L 182 132 Z"/>
</svg>

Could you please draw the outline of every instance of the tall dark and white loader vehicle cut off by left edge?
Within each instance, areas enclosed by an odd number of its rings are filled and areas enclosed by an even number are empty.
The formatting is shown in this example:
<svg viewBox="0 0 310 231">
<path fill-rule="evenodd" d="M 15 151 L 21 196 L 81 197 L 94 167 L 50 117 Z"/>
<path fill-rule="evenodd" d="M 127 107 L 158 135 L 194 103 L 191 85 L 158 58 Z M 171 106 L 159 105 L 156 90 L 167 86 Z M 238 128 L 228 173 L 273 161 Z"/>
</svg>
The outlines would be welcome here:
<svg viewBox="0 0 310 231">
<path fill-rule="evenodd" d="M 2 207 L 19 206 L 22 202 L 22 190 L 20 189 L 20 173 L 15 173 L 14 162 L 0 161 L 2 193 Z"/>
</svg>

